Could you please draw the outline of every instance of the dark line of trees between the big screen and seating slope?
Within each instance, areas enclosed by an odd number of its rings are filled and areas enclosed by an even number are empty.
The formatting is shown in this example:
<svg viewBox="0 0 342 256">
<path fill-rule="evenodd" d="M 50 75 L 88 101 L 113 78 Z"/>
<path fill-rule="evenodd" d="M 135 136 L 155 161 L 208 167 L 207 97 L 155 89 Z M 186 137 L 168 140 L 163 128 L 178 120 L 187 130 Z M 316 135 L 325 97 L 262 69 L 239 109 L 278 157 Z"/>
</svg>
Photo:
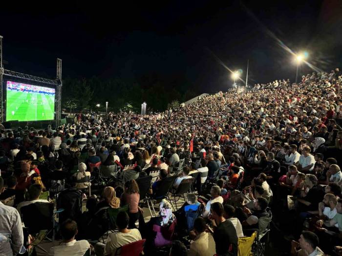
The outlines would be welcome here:
<svg viewBox="0 0 342 256">
<path fill-rule="evenodd" d="M 66 78 L 62 86 L 62 108 L 81 110 L 132 110 L 139 113 L 147 103 L 147 112 L 164 111 L 199 95 L 199 90 L 184 76 L 149 74 L 138 79 Z M 97 107 L 97 105 L 100 107 Z"/>
</svg>

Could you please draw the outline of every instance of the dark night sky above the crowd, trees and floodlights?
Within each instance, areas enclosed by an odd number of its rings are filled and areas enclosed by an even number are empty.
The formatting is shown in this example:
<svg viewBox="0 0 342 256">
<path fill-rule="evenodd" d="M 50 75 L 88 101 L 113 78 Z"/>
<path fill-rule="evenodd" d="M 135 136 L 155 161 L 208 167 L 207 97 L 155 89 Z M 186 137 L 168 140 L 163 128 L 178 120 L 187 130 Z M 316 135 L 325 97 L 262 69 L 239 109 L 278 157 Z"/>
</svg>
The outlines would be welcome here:
<svg viewBox="0 0 342 256">
<path fill-rule="evenodd" d="M 5 68 L 54 77 L 58 57 L 64 77 L 184 75 L 216 92 L 231 80 L 214 55 L 243 76 L 250 59 L 251 84 L 294 79 L 293 57 L 276 38 L 325 71 L 342 63 L 340 0 L 96 3 L 1 7 Z"/>
</svg>

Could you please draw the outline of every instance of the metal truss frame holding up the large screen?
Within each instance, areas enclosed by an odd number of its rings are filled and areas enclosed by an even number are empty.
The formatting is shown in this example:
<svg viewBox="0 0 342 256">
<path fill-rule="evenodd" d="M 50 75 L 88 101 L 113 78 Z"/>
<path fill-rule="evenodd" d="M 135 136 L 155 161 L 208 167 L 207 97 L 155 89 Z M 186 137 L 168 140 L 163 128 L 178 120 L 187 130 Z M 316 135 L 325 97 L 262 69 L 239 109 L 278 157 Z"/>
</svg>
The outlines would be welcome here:
<svg viewBox="0 0 342 256">
<path fill-rule="evenodd" d="M 2 87 L 2 79 L 3 76 L 26 79 L 39 83 L 45 83 L 56 86 L 56 115 L 55 121 L 56 126 L 60 125 L 61 122 L 61 100 L 62 100 L 62 59 L 57 59 L 57 77 L 56 79 L 45 79 L 40 77 L 35 77 L 23 73 L 19 73 L 16 71 L 11 71 L 3 68 L 3 37 L 0 36 L 0 123 L 4 121 L 3 115 L 3 87 Z"/>
</svg>

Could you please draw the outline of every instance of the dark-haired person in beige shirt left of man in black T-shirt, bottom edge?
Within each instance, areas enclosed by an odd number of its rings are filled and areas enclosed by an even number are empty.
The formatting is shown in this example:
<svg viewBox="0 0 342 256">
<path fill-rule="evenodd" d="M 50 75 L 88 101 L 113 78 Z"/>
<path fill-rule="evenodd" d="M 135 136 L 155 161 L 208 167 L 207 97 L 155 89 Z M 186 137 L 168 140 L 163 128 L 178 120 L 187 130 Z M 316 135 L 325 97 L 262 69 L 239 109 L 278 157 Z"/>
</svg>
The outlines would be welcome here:
<svg viewBox="0 0 342 256">
<path fill-rule="evenodd" d="M 212 234 L 207 233 L 206 220 L 202 217 L 195 219 L 194 224 L 195 238 L 190 245 L 188 256 L 213 256 L 216 254 L 215 241 Z"/>
</svg>

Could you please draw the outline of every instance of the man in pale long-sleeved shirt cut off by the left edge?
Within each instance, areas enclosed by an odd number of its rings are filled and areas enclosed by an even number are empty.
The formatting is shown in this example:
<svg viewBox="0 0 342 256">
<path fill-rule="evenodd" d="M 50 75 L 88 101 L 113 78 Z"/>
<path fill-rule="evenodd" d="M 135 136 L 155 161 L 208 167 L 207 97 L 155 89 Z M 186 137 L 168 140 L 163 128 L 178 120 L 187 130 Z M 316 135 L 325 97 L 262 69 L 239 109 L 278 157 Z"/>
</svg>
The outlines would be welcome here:
<svg viewBox="0 0 342 256">
<path fill-rule="evenodd" d="M 0 177 L 0 194 L 5 190 Z M 21 252 L 24 236 L 18 211 L 0 202 L 0 255 L 17 255 Z"/>
</svg>

